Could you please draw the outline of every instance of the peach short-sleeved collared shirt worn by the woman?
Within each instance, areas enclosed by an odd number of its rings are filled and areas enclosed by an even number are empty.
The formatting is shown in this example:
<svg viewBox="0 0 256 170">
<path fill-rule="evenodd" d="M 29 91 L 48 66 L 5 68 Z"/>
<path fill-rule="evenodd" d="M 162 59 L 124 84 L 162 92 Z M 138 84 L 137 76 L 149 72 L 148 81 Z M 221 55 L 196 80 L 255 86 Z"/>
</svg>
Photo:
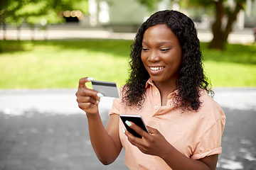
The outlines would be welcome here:
<svg viewBox="0 0 256 170">
<path fill-rule="evenodd" d="M 146 82 L 146 99 L 140 110 L 127 107 L 121 98 L 114 98 L 110 115 L 142 115 L 144 123 L 159 130 L 161 135 L 181 154 L 191 159 L 202 159 L 221 154 L 221 136 L 225 126 L 225 114 L 218 103 L 206 91 L 201 90 L 201 107 L 198 111 L 182 112 L 172 102 L 174 91 L 169 94 L 166 106 L 161 106 L 159 89 L 149 79 Z M 125 149 L 125 164 L 129 169 L 171 169 L 163 159 L 142 153 L 132 145 L 122 132 L 125 129 L 119 120 L 119 137 Z"/>
</svg>

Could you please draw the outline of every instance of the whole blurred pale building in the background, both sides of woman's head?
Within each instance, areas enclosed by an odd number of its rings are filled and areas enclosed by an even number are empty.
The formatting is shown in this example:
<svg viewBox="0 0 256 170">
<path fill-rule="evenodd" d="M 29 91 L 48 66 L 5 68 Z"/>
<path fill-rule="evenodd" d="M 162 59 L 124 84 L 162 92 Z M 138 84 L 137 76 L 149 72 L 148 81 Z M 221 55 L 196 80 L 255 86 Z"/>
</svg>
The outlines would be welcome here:
<svg viewBox="0 0 256 170">
<path fill-rule="evenodd" d="M 146 6 L 137 0 L 88 0 L 89 16 L 80 21 L 81 26 L 109 28 L 114 32 L 137 32 L 139 26 L 148 18 Z M 228 0 L 234 6 L 234 0 Z M 174 9 L 186 13 L 196 23 L 198 29 L 210 29 L 213 23 L 213 12 L 206 8 L 180 8 L 178 0 L 161 0 L 155 11 Z M 247 0 L 245 11 L 238 13 L 234 28 L 242 30 L 256 26 L 256 1 Z M 225 19 L 224 19 L 225 22 Z"/>
</svg>

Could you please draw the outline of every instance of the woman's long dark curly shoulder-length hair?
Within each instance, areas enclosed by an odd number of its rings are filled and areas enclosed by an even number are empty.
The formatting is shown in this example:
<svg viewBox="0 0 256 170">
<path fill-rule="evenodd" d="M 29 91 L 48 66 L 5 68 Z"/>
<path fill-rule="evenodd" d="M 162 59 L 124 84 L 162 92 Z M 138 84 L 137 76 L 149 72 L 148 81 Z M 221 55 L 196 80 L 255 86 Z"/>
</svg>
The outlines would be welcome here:
<svg viewBox="0 0 256 170">
<path fill-rule="evenodd" d="M 141 60 L 142 39 L 147 28 L 158 24 L 166 24 L 171 29 L 177 36 L 182 49 L 183 60 L 176 81 L 178 93 L 174 97 L 174 103 L 183 111 L 197 111 L 201 106 L 200 88 L 205 89 L 211 96 L 214 93 L 203 71 L 203 56 L 193 21 L 185 14 L 172 10 L 154 13 L 139 28 L 135 42 L 131 45 L 129 79 L 122 90 L 123 101 L 127 106 L 136 108 L 141 108 L 144 103 L 149 73 Z"/>
</svg>

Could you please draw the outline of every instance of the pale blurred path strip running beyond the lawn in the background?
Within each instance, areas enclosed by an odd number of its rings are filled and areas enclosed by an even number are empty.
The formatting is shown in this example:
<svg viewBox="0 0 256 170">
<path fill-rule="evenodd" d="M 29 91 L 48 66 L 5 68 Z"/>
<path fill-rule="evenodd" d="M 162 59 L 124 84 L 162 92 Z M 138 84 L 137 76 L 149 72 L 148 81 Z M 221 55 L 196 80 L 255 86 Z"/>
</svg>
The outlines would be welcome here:
<svg viewBox="0 0 256 170">
<path fill-rule="evenodd" d="M 59 39 L 78 39 L 78 38 L 99 38 L 99 39 L 124 39 L 134 40 L 136 33 L 113 33 L 104 28 L 81 28 L 80 26 L 52 26 L 47 31 L 36 29 L 31 31 L 29 28 L 22 28 L 20 40 L 31 40 L 33 35 L 35 40 L 59 40 Z M 0 40 L 3 40 L 4 30 L 0 30 Z M 7 40 L 17 40 L 18 31 L 15 28 L 6 30 Z M 210 30 L 198 30 L 198 38 L 201 42 L 209 42 L 213 38 Z M 235 30 L 228 36 L 229 43 L 250 43 L 255 38 L 252 30 Z"/>
</svg>

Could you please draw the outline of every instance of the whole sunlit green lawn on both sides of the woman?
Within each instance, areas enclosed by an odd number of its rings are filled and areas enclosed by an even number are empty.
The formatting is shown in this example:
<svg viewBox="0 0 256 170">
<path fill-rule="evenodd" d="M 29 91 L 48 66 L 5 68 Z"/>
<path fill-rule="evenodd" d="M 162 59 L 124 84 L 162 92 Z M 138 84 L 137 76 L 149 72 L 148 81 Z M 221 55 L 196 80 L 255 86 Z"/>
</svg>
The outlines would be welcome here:
<svg viewBox="0 0 256 170">
<path fill-rule="evenodd" d="M 127 79 L 131 40 L 0 41 L 0 89 L 77 88 L 82 77 Z M 202 43 L 213 87 L 256 86 L 256 45 L 228 45 L 224 52 Z"/>
</svg>

